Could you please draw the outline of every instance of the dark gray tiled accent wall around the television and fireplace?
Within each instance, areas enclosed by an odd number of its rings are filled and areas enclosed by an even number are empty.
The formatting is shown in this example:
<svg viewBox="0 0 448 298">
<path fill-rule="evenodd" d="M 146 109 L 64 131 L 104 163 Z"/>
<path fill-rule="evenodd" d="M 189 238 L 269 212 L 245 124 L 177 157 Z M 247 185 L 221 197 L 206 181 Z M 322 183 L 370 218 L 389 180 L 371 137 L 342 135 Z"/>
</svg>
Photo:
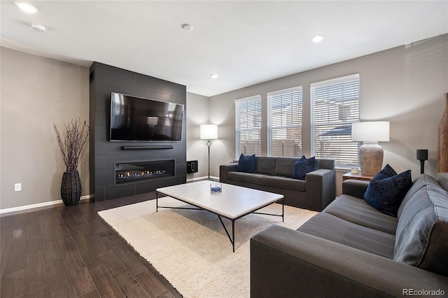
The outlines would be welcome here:
<svg viewBox="0 0 448 298">
<path fill-rule="evenodd" d="M 182 141 L 109 141 L 111 92 L 183 104 Z M 186 86 L 94 62 L 90 66 L 90 194 L 94 194 L 94 201 L 153 192 L 158 187 L 186 183 L 186 111 Z M 123 150 L 132 146 L 151 146 L 151 149 Z M 176 160 L 174 177 L 123 185 L 113 183 L 113 165 L 116 162 L 173 158 Z"/>
</svg>

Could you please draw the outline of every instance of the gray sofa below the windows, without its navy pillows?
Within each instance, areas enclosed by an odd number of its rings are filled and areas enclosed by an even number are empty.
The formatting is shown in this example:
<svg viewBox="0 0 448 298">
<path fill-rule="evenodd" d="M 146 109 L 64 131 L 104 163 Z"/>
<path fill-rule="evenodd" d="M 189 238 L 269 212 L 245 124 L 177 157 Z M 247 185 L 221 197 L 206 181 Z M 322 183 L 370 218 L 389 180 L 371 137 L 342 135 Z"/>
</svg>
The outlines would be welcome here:
<svg viewBox="0 0 448 298">
<path fill-rule="evenodd" d="M 321 211 L 336 196 L 335 161 L 316 159 L 318 169 L 307 173 L 305 180 L 293 179 L 293 168 L 298 158 L 255 157 L 255 172 L 237 171 L 237 164 L 219 167 L 221 183 L 283 194 L 285 204 Z"/>
</svg>

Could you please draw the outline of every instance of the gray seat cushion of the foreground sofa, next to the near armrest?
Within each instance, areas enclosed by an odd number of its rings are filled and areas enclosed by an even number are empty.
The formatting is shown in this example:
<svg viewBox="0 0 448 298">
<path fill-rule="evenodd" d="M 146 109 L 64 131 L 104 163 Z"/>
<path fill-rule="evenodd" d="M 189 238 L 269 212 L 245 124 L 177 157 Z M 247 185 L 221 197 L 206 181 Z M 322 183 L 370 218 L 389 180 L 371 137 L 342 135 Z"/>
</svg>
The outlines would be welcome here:
<svg viewBox="0 0 448 298">
<path fill-rule="evenodd" d="M 395 236 L 348 222 L 328 213 L 318 213 L 297 231 L 391 259 Z"/>
</svg>

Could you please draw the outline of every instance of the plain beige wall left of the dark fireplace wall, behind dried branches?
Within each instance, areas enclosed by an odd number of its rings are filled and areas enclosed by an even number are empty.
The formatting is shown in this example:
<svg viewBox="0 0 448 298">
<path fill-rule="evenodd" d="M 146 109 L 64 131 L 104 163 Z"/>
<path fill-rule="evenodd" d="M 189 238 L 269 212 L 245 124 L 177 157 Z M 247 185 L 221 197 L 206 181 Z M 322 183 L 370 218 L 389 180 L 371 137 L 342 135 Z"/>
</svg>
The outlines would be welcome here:
<svg viewBox="0 0 448 298">
<path fill-rule="evenodd" d="M 65 166 L 53 123 L 59 129 L 76 117 L 88 123 L 89 69 L 0 49 L 0 209 L 60 200 Z M 85 152 L 78 168 L 83 195 L 89 190 L 87 157 Z M 22 183 L 21 192 L 15 183 Z"/>
</svg>

